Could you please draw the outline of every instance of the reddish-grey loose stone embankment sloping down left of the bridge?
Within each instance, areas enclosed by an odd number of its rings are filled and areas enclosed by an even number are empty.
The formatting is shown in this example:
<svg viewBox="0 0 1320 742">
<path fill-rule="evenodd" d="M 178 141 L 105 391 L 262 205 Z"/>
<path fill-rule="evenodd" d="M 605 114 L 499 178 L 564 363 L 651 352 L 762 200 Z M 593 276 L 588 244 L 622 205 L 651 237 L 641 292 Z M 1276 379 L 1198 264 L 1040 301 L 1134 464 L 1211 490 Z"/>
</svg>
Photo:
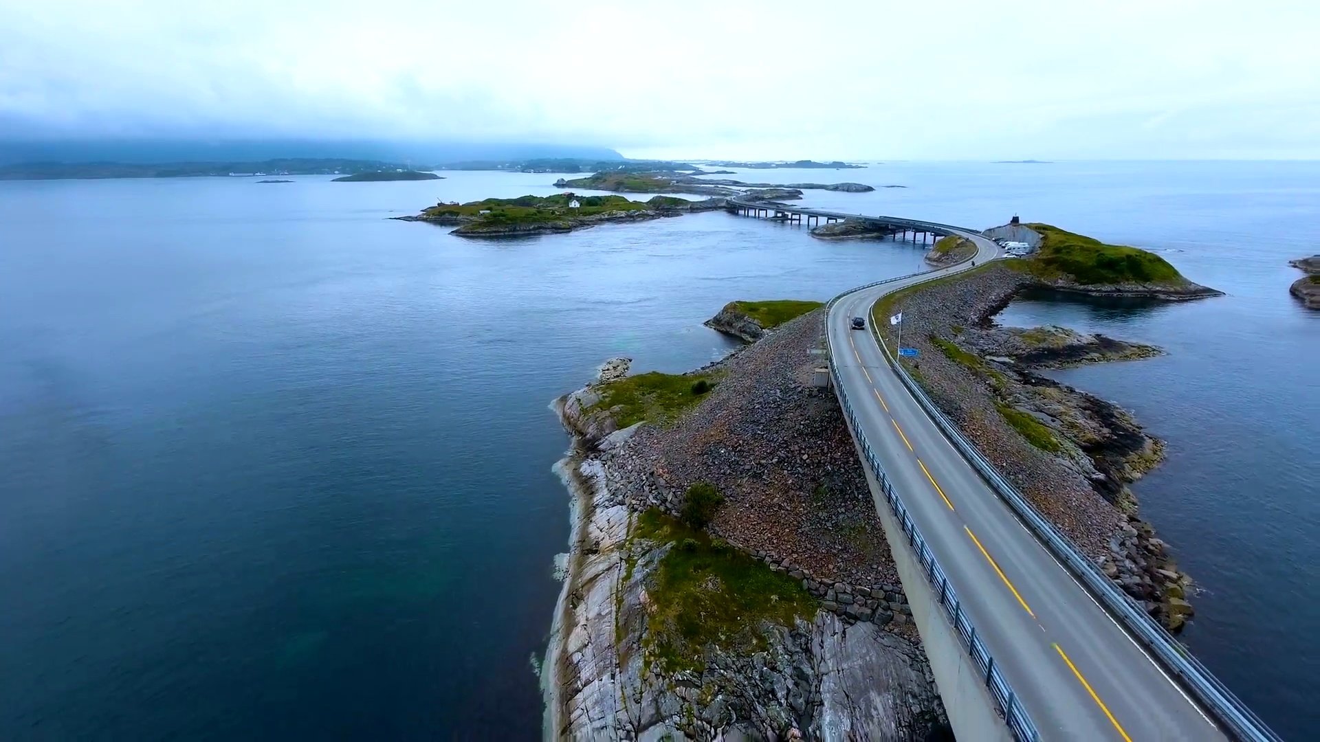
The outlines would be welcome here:
<svg viewBox="0 0 1320 742">
<path fill-rule="evenodd" d="M 838 401 L 809 386 L 824 317 L 804 314 L 721 362 L 723 380 L 700 407 L 643 426 L 606 465 L 635 502 L 677 503 L 689 485 L 715 485 L 726 502 L 711 532 L 817 581 L 898 586 Z"/>
</svg>

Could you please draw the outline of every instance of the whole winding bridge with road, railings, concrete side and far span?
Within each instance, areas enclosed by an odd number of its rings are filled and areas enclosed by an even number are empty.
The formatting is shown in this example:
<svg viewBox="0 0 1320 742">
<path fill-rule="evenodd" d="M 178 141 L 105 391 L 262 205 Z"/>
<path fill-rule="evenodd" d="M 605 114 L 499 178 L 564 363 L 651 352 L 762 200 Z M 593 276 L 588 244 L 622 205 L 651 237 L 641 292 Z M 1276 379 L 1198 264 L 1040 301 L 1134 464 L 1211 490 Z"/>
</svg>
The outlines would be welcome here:
<svg viewBox="0 0 1320 742">
<path fill-rule="evenodd" d="M 730 199 L 730 211 L 974 230 Z M 1250 709 L 1109 581 L 962 437 L 853 317 L 891 292 L 968 269 L 900 276 L 828 305 L 830 378 L 960 739 L 1278 741 Z"/>
</svg>

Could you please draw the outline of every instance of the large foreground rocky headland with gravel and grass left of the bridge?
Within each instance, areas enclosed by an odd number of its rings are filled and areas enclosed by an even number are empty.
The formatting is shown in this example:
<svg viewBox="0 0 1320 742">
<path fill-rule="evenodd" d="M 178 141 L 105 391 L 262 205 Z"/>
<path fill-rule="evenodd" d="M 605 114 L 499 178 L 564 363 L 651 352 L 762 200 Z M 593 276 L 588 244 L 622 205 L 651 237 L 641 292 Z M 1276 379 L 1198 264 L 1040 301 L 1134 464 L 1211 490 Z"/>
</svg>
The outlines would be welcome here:
<svg viewBox="0 0 1320 742">
<path fill-rule="evenodd" d="M 822 333 L 817 308 L 694 372 L 619 360 L 556 403 L 576 504 L 548 737 L 948 731 L 838 403 L 810 384 Z"/>
</svg>

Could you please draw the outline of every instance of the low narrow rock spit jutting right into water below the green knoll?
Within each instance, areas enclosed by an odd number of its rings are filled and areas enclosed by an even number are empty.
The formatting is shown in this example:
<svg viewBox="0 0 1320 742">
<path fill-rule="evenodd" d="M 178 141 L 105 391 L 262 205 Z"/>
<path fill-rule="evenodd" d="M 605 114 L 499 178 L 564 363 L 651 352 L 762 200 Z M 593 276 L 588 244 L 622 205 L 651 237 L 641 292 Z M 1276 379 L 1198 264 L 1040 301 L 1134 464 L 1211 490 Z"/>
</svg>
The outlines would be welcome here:
<svg viewBox="0 0 1320 742">
<path fill-rule="evenodd" d="M 1163 355 L 1151 345 L 1133 343 L 1069 327 L 974 327 L 958 345 L 983 356 L 1008 358 L 1032 368 L 1067 368 L 1106 360 L 1135 360 Z"/>
</svg>

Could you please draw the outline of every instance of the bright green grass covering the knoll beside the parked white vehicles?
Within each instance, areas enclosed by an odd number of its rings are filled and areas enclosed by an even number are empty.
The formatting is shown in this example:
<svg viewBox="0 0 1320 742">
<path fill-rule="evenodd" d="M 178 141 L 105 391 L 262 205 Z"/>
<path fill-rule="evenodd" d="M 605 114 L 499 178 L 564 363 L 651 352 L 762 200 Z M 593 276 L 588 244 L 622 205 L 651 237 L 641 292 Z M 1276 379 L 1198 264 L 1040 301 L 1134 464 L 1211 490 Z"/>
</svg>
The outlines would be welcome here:
<svg viewBox="0 0 1320 742">
<path fill-rule="evenodd" d="M 1040 232 L 1040 250 L 1026 268 L 1043 279 L 1068 277 L 1094 284 L 1187 284 L 1167 260 L 1137 247 L 1105 244 L 1051 224 L 1027 224 Z"/>
</svg>

